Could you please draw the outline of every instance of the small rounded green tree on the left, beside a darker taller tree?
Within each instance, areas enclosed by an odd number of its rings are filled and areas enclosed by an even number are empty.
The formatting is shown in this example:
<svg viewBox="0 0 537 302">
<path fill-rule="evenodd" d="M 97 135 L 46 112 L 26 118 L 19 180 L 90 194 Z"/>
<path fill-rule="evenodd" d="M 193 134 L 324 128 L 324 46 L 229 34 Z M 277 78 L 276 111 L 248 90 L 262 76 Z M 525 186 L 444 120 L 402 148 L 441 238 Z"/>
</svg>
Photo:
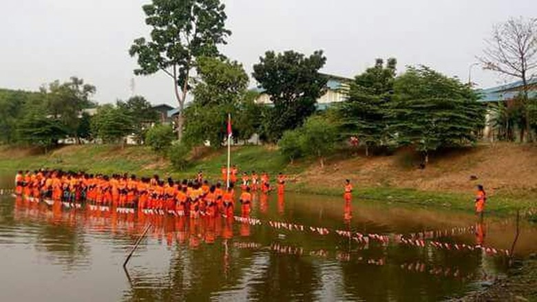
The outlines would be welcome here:
<svg viewBox="0 0 537 302">
<path fill-rule="evenodd" d="M 105 143 L 123 143 L 132 133 L 131 118 L 122 106 L 102 105 L 92 118 L 92 132 Z"/>
</svg>

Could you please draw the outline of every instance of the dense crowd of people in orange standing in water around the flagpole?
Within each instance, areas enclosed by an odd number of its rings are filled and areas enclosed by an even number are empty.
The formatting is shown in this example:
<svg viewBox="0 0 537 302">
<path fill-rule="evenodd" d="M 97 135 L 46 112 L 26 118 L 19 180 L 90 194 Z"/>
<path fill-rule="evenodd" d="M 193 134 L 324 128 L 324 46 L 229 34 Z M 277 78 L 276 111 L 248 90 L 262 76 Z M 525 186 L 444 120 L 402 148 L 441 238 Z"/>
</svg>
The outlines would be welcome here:
<svg viewBox="0 0 537 302">
<path fill-rule="evenodd" d="M 225 170 L 224 170 L 225 169 Z M 168 177 L 160 179 L 128 174 L 87 174 L 85 172 L 64 172 L 62 170 L 19 171 L 15 177 L 15 193 L 34 199 L 54 201 L 89 201 L 101 205 L 157 210 L 177 216 L 233 217 L 235 210 L 235 182 L 238 168 L 233 165 L 228 171 L 222 169 L 222 181 L 209 183 L 202 171 L 196 179 L 177 181 Z M 267 194 L 272 190 L 268 173 L 260 176 L 255 171 L 242 173 L 239 203 L 242 215 L 251 211 L 252 192 Z M 283 194 L 285 177 L 276 177 L 277 192 Z M 229 183 L 229 185 L 228 185 Z"/>
</svg>

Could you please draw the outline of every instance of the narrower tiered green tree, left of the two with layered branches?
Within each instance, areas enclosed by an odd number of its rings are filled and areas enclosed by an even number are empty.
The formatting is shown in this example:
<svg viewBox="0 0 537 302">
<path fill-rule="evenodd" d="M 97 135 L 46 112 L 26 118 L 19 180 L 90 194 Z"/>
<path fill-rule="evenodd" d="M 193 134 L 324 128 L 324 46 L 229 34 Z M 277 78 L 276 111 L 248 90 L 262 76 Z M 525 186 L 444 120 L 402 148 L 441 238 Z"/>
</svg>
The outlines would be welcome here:
<svg viewBox="0 0 537 302">
<path fill-rule="evenodd" d="M 382 59 L 377 59 L 374 67 L 350 83 L 348 97 L 339 108 L 345 132 L 357 136 L 366 145 L 366 155 L 390 138 L 388 111 L 396 66 L 396 59 L 388 59 L 386 66 Z"/>
</svg>

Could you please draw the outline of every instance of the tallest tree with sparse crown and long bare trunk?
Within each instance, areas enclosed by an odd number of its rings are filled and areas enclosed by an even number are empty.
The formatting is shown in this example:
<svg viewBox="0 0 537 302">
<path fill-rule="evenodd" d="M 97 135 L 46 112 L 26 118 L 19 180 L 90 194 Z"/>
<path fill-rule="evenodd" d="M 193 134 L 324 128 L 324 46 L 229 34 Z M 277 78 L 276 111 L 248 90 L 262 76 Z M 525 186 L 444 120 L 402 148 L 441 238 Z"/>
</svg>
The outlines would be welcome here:
<svg viewBox="0 0 537 302">
<path fill-rule="evenodd" d="M 167 74 L 179 104 L 179 139 L 184 124 L 183 110 L 190 90 L 189 76 L 198 57 L 218 57 L 217 46 L 225 44 L 231 31 L 220 0 L 152 0 L 143 6 L 149 39 L 138 38 L 129 50 L 138 57 L 135 74 Z"/>
</svg>

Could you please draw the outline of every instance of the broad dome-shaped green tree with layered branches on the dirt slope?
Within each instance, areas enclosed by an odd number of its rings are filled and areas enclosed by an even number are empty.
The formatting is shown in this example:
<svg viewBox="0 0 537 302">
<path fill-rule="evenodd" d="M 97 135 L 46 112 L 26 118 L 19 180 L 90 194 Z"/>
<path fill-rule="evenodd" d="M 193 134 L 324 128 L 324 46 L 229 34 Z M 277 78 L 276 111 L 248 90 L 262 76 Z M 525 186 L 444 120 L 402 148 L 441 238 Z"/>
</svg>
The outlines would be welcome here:
<svg viewBox="0 0 537 302">
<path fill-rule="evenodd" d="M 485 124 L 485 107 L 470 85 L 428 67 L 410 67 L 394 82 L 390 130 L 400 143 L 423 154 L 476 141 Z"/>
</svg>

